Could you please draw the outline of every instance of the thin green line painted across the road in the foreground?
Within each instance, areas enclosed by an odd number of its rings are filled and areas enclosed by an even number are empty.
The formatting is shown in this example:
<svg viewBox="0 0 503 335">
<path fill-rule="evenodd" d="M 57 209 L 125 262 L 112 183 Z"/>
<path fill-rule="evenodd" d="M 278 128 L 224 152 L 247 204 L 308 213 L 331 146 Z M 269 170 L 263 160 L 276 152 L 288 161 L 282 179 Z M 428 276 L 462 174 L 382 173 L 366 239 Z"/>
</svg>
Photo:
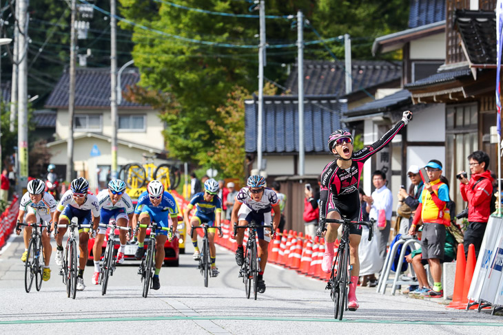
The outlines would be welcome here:
<svg viewBox="0 0 503 335">
<path fill-rule="evenodd" d="M 149 316 L 127 318 L 61 318 L 50 320 L 12 320 L 0 321 L 0 325 L 21 325 L 28 323 L 76 323 L 76 322 L 114 322 L 114 321 L 197 321 L 197 320 L 229 320 L 229 321 L 289 321 L 289 322 L 345 322 L 345 323 L 384 323 L 395 325 L 469 325 L 482 327 L 503 327 L 502 322 L 452 322 L 452 321 L 398 321 L 398 320 L 368 320 L 356 319 L 342 321 L 333 318 L 260 318 L 239 316 Z"/>
</svg>

